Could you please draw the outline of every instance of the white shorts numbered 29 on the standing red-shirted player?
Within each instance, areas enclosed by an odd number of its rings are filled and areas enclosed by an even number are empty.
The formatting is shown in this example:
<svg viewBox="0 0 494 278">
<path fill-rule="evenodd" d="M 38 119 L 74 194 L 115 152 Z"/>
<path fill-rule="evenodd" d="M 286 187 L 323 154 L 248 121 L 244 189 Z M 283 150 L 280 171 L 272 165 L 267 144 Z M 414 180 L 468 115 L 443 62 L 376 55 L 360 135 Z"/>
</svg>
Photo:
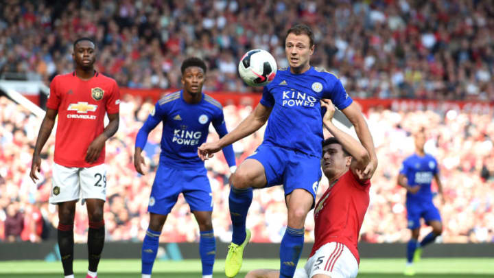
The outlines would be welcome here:
<svg viewBox="0 0 494 278">
<path fill-rule="evenodd" d="M 54 163 L 49 202 L 86 199 L 106 200 L 106 165 L 65 167 Z"/>
</svg>

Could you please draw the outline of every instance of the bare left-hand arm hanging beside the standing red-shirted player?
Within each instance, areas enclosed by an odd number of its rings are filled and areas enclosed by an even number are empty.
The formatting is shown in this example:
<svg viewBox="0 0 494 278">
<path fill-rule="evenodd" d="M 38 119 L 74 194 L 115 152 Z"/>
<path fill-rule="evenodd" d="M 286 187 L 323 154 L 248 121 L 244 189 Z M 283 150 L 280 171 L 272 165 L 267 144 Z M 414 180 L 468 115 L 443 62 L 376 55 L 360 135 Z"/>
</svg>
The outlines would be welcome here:
<svg viewBox="0 0 494 278">
<path fill-rule="evenodd" d="M 38 132 L 38 138 L 36 139 L 36 145 L 34 146 L 33 160 L 30 172 L 30 177 L 34 183 L 36 183 L 36 180 L 38 180 L 36 171 L 40 172 L 40 152 L 41 150 L 43 150 L 43 146 L 45 146 L 45 143 L 48 140 L 49 135 L 51 134 L 51 130 L 53 130 L 57 114 L 58 111 L 56 111 L 55 109 L 47 108 L 45 118 L 43 118 L 43 122 L 41 123 L 40 131 Z"/>
</svg>

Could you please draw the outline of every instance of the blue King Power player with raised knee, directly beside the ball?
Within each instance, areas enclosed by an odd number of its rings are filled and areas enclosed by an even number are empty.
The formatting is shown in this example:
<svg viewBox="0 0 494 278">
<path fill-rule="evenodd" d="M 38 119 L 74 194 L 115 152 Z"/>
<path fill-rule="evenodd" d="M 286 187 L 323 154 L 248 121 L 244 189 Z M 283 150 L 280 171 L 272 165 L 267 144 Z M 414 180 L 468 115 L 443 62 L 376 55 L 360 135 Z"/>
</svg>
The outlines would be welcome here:
<svg viewBox="0 0 494 278">
<path fill-rule="evenodd" d="M 288 211 L 280 248 L 280 277 L 294 275 L 303 248 L 305 217 L 314 207 L 321 178 L 321 99 L 330 99 L 355 126 L 371 157 L 371 162 L 362 169 L 364 178 L 371 178 L 377 167 L 373 139 L 360 108 L 335 75 L 309 64 L 314 53 L 311 28 L 307 25 L 290 28 L 285 37 L 285 53 L 290 67 L 279 69 L 274 80 L 264 86 L 261 101 L 252 114 L 219 141 L 199 147 L 202 159 L 212 157 L 214 152 L 261 128 L 269 118 L 263 143 L 231 178 L 229 205 L 233 235 L 225 262 L 227 277 L 239 272 L 244 247 L 250 240 L 246 217 L 252 188 L 273 185 L 283 185 Z"/>
</svg>

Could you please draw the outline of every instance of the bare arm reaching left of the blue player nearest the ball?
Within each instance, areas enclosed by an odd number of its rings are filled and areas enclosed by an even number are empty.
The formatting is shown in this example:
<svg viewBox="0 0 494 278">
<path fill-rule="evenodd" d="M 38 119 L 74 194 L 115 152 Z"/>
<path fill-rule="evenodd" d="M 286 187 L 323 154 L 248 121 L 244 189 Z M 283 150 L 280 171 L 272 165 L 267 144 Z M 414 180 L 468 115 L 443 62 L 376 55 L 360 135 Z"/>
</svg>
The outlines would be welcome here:
<svg viewBox="0 0 494 278">
<path fill-rule="evenodd" d="M 206 160 L 209 157 L 213 157 L 215 152 L 220 151 L 225 146 L 231 145 L 232 143 L 254 133 L 256 130 L 261 128 L 261 126 L 266 124 L 271 111 L 271 107 L 263 106 L 263 104 L 260 103 L 257 104 L 254 111 L 252 111 L 252 113 L 250 113 L 250 115 L 248 115 L 234 130 L 218 141 L 203 143 L 198 148 L 198 155 L 200 159 Z"/>
</svg>

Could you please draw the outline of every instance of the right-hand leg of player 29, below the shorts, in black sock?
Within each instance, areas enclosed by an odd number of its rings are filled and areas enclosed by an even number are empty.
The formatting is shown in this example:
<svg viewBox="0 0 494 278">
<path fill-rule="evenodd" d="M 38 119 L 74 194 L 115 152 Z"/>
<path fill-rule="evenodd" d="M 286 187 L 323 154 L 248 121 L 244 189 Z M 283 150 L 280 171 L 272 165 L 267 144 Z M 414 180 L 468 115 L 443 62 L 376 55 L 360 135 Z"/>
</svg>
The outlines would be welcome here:
<svg viewBox="0 0 494 278">
<path fill-rule="evenodd" d="M 97 266 L 104 246 L 105 226 L 103 218 L 104 200 L 97 198 L 86 199 L 86 207 L 89 217 L 88 231 L 88 277 L 97 276 Z"/>
</svg>

